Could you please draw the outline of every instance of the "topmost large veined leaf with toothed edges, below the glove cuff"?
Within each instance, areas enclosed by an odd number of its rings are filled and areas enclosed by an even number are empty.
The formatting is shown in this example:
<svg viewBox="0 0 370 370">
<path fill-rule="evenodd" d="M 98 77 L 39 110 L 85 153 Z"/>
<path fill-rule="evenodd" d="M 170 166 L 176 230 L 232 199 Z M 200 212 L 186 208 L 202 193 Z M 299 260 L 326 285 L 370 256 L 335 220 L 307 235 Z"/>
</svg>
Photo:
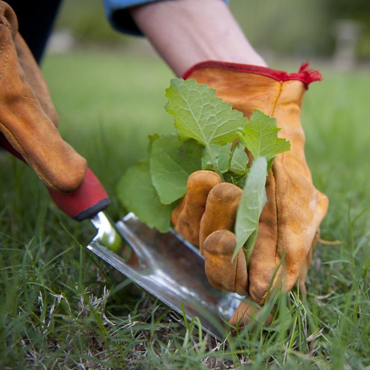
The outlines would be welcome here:
<svg viewBox="0 0 370 370">
<path fill-rule="evenodd" d="M 193 138 L 208 149 L 210 144 L 233 141 L 236 132 L 248 122 L 241 112 L 232 110 L 231 104 L 217 98 L 216 90 L 199 85 L 195 80 L 171 80 L 166 97 L 165 108 L 174 116 L 179 136 Z"/>
</svg>

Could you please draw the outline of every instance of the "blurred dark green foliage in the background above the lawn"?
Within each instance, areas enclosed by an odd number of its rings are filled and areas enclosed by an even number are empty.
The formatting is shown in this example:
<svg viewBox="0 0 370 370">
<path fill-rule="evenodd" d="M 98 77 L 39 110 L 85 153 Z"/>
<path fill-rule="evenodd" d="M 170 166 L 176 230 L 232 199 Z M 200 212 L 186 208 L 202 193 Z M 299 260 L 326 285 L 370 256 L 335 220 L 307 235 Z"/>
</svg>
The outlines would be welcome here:
<svg viewBox="0 0 370 370">
<path fill-rule="evenodd" d="M 338 21 L 347 20 L 354 21 L 356 57 L 370 59 L 369 0 L 230 0 L 230 8 L 252 45 L 267 57 L 331 57 Z M 65 0 L 56 29 L 66 28 L 78 44 L 123 46 L 131 40 L 108 25 L 102 0 Z"/>
</svg>

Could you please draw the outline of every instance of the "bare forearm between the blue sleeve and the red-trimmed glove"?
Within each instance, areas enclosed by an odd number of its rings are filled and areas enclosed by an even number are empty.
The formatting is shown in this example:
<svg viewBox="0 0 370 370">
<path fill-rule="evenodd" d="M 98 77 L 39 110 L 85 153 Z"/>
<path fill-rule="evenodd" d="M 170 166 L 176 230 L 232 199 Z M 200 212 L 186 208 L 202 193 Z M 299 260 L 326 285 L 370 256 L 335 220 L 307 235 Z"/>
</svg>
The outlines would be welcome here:
<svg viewBox="0 0 370 370">
<path fill-rule="evenodd" d="M 130 11 L 178 76 L 205 60 L 266 65 L 222 0 L 163 0 Z"/>
</svg>

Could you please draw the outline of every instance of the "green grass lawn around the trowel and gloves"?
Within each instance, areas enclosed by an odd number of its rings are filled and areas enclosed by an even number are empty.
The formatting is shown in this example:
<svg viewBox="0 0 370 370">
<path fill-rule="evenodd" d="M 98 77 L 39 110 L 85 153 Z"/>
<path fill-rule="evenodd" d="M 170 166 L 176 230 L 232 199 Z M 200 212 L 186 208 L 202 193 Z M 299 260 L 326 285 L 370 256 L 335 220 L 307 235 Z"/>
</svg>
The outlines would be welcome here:
<svg viewBox="0 0 370 370">
<path fill-rule="evenodd" d="M 145 157 L 147 135 L 172 130 L 171 72 L 154 58 L 72 53 L 43 66 L 60 131 L 124 215 L 115 185 Z M 295 68 L 293 69 L 295 70 Z M 327 70 L 303 106 L 307 161 L 330 199 L 308 296 L 280 297 L 271 327 L 215 345 L 92 256 L 89 222 L 69 220 L 37 176 L 0 153 L 0 368 L 370 369 L 370 74 Z"/>
</svg>

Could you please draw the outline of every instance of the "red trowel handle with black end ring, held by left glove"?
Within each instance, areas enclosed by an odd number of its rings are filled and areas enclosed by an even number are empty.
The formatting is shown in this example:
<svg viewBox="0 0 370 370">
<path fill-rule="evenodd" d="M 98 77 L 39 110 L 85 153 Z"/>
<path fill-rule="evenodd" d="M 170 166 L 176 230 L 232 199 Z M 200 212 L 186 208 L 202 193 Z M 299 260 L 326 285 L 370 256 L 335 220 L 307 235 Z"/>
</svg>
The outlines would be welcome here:
<svg viewBox="0 0 370 370">
<path fill-rule="evenodd" d="M 1 132 L 0 146 L 24 161 Z M 108 194 L 90 168 L 87 169 L 84 182 L 74 193 L 60 194 L 48 187 L 47 189 L 57 207 L 77 221 L 92 218 L 110 204 Z"/>
</svg>

